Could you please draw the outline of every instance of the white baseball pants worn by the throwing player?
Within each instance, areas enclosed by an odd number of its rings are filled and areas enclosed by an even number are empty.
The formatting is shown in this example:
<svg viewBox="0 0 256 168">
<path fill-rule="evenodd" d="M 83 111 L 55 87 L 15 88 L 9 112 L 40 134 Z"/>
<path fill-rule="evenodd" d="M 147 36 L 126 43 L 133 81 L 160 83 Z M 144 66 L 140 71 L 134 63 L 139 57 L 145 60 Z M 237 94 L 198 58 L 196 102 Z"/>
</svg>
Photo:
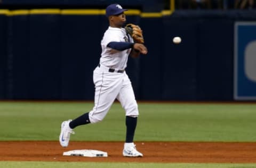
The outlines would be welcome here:
<svg viewBox="0 0 256 168">
<path fill-rule="evenodd" d="M 131 81 L 125 71 L 109 72 L 106 66 L 97 66 L 93 71 L 93 82 L 95 95 L 93 110 L 89 112 L 91 123 L 102 121 L 116 98 L 124 108 L 126 116 L 139 115 Z"/>
</svg>

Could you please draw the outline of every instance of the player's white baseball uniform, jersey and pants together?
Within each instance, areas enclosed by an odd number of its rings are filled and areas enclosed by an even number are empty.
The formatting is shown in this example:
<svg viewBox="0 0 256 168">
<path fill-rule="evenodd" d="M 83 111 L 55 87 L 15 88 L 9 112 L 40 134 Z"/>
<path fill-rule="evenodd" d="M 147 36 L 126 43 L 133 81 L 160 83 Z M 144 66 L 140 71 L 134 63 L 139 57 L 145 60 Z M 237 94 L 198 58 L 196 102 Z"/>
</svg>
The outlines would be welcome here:
<svg viewBox="0 0 256 168">
<path fill-rule="evenodd" d="M 100 64 L 93 71 L 95 95 L 93 110 L 89 112 L 91 123 L 102 121 L 116 98 L 124 108 L 126 116 L 139 115 L 131 81 L 124 71 L 131 48 L 117 51 L 107 47 L 113 41 L 133 43 L 124 28 L 109 27 L 104 33 Z"/>
</svg>

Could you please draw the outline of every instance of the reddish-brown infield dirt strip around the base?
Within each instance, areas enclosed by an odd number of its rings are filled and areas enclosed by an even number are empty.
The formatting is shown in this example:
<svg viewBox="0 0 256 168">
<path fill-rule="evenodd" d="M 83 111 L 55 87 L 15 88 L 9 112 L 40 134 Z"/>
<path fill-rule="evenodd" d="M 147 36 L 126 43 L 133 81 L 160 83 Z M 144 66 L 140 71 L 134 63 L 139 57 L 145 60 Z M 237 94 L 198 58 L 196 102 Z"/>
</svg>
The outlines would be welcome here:
<svg viewBox="0 0 256 168">
<path fill-rule="evenodd" d="M 122 156 L 123 142 L 1 141 L 0 161 L 256 163 L 256 142 L 135 142 L 140 158 Z M 62 156 L 75 149 L 95 149 L 108 157 Z"/>
</svg>

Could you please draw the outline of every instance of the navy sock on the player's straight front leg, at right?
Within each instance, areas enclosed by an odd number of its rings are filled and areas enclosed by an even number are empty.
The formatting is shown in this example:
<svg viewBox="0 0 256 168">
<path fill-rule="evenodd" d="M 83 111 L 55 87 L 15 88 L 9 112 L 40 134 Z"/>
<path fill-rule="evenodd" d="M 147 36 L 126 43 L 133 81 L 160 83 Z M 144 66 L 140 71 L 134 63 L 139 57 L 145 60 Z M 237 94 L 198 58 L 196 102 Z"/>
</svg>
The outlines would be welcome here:
<svg viewBox="0 0 256 168">
<path fill-rule="evenodd" d="M 135 129 L 137 126 L 137 117 L 126 116 L 126 143 L 133 142 Z"/>
</svg>

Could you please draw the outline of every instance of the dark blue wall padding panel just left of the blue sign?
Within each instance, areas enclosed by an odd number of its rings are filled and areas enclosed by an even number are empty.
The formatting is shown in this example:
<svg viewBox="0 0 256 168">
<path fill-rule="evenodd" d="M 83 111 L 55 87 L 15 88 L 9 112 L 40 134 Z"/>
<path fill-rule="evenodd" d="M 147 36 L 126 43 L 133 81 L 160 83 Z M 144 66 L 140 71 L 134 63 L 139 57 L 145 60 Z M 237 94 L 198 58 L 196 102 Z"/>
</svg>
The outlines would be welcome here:
<svg viewBox="0 0 256 168">
<path fill-rule="evenodd" d="M 198 22 L 198 28 L 197 99 L 230 100 L 233 97 L 234 22 L 208 19 Z"/>
</svg>

